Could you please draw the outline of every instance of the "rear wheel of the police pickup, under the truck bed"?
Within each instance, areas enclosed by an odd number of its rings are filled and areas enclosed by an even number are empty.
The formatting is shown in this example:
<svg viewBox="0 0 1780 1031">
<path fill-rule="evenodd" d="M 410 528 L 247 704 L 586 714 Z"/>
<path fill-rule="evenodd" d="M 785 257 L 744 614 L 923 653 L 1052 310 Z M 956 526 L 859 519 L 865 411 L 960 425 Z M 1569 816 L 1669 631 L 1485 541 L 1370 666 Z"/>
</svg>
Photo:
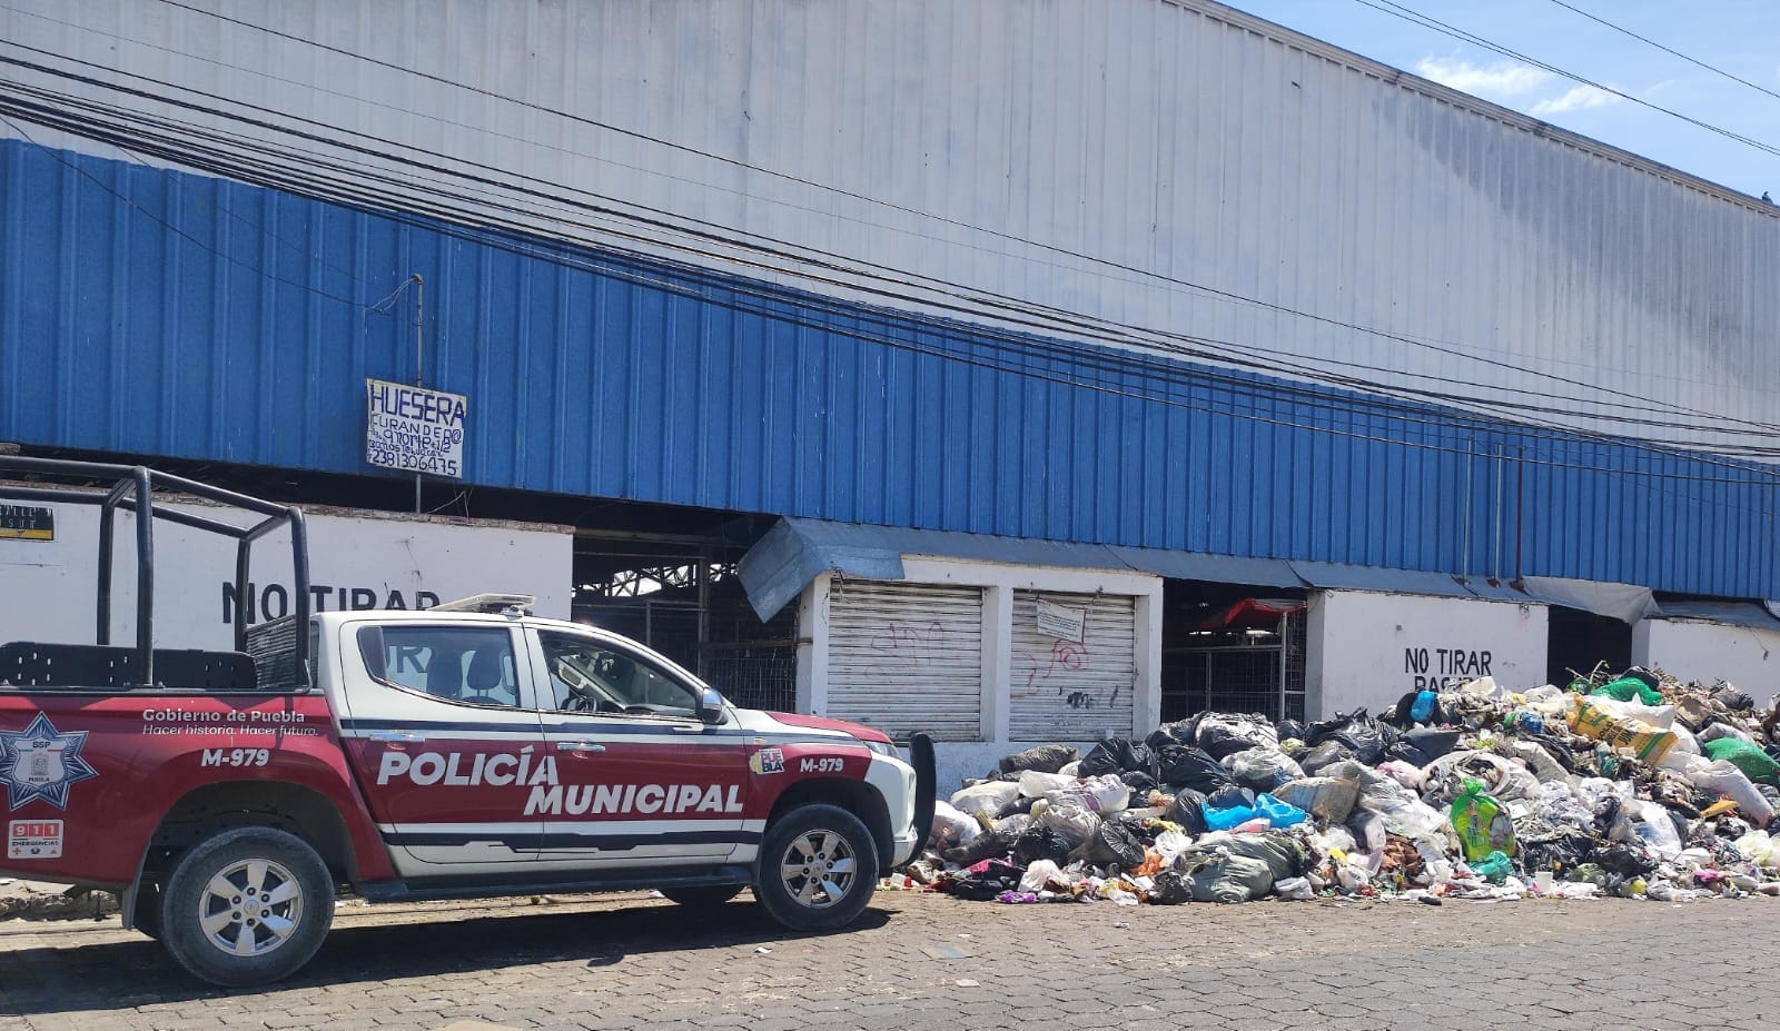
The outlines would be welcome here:
<svg viewBox="0 0 1780 1031">
<path fill-rule="evenodd" d="M 308 842 L 242 826 L 198 842 L 173 865 L 160 889 L 160 942 L 212 985 L 265 985 L 310 962 L 333 908 L 333 876 Z"/>
</svg>

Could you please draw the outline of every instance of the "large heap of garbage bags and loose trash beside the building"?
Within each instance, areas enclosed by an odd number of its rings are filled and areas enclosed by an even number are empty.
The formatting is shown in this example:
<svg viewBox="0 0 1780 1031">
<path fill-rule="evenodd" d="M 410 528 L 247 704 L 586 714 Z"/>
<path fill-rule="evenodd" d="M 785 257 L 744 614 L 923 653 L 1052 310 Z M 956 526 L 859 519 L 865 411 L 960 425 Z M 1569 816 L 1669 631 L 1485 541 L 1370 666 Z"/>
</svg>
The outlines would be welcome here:
<svg viewBox="0 0 1780 1031">
<path fill-rule="evenodd" d="M 1120 905 L 1780 896 L 1776 716 L 1641 668 L 1310 725 L 1205 712 L 1004 757 L 938 801 L 895 883 Z"/>
</svg>

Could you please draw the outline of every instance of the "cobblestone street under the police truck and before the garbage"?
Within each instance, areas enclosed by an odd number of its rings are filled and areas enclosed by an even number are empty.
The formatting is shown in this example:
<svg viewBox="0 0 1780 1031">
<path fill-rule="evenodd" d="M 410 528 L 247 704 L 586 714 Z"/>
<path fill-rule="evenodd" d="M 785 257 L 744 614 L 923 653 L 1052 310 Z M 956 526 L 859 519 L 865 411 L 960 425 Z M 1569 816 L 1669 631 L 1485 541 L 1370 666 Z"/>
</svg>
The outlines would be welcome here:
<svg viewBox="0 0 1780 1031">
<path fill-rule="evenodd" d="M 0 1031 L 151 1027 L 1769 1027 L 1768 899 L 1178 908 L 883 892 L 787 938 L 742 896 L 342 910 L 299 979 L 226 994 L 107 922 L 0 926 Z M 1768 1013 L 1769 1020 L 1762 1015 Z"/>
</svg>

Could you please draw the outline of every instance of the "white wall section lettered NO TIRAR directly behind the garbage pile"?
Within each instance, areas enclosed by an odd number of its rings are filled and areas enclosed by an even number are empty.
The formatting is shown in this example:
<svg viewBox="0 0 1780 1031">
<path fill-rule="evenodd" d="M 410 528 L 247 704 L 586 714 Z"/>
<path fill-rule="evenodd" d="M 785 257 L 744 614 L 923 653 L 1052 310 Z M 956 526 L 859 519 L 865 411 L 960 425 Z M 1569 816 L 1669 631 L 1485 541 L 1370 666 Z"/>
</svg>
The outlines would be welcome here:
<svg viewBox="0 0 1780 1031">
<path fill-rule="evenodd" d="M 1458 687 L 1481 675 L 1504 687 L 1545 682 L 1545 605 L 1312 591 L 1305 709 L 1312 719 L 1365 707 L 1378 714 L 1404 691 Z"/>
</svg>

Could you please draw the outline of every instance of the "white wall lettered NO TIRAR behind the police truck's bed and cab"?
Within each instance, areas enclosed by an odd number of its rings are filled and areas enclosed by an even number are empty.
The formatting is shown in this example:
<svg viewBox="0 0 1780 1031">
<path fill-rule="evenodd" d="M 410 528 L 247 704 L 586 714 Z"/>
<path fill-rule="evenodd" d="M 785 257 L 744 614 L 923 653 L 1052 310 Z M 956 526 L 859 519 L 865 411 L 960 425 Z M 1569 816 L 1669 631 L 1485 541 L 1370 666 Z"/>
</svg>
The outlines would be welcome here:
<svg viewBox="0 0 1780 1031">
<path fill-rule="evenodd" d="M 0 641 L 94 641 L 98 509 L 46 506 L 53 541 L 0 540 Z M 198 504 L 182 507 L 231 524 L 246 516 Z M 534 595 L 538 614 L 568 618 L 573 534 L 568 527 L 459 518 L 306 511 L 310 584 L 317 609 L 417 607 L 481 591 Z M 135 643 L 135 520 L 117 516 L 112 572 L 112 643 Z M 253 614 L 258 621 L 294 605 L 290 536 L 269 534 L 253 548 Z M 235 580 L 235 541 L 155 522 L 155 645 L 231 648 L 226 621 Z M 322 591 L 328 588 L 328 591 Z M 431 595 L 431 598 L 427 598 Z"/>
</svg>

